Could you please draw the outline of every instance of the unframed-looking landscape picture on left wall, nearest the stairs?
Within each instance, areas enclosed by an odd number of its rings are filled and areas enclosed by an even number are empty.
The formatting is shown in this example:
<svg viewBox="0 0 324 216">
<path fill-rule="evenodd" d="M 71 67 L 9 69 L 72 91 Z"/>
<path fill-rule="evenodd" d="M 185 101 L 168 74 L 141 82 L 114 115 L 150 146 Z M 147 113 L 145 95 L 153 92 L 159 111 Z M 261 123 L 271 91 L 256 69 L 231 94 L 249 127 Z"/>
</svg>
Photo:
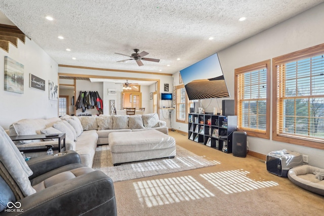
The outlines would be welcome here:
<svg viewBox="0 0 324 216">
<path fill-rule="evenodd" d="M 24 94 L 24 65 L 5 56 L 5 91 Z"/>
</svg>

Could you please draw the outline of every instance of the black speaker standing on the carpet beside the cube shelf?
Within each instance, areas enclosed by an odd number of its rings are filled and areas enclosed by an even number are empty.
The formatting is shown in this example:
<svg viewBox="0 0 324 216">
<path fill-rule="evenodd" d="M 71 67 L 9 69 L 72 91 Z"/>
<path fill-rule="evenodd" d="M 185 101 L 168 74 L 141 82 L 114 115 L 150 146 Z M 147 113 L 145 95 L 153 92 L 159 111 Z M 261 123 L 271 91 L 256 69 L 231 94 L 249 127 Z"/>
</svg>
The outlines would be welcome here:
<svg viewBox="0 0 324 216">
<path fill-rule="evenodd" d="M 232 153 L 237 157 L 247 156 L 247 133 L 246 132 L 233 132 L 233 146 Z"/>
</svg>

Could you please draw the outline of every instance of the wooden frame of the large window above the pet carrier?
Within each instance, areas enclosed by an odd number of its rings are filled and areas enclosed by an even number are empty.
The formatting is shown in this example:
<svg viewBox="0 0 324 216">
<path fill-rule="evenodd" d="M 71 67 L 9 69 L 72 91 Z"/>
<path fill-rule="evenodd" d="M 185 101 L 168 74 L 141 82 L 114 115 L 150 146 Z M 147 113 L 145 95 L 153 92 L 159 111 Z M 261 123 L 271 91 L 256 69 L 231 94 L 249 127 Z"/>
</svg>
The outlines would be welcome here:
<svg viewBox="0 0 324 216">
<path fill-rule="evenodd" d="M 277 65 L 289 63 L 292 61 L 298 61 L 305 58 L 311 58 L 313 56 L 322 54 L 324 54 L 324 44 L 306 48 L 304 50 L 289 53 L 272 59 L 272 140 L 311 148 L 324 149 L 324 139 L 310 139 L 307 137 L 280 134 L 279 128 L 277 126 L 277 123 L 281 117 L 277 114 L 279 112 L 278 109 L 280 109 L 277 104 Z M 283 102 L 278 103 L 279 106 L 283 106 Z"/>
</svg>

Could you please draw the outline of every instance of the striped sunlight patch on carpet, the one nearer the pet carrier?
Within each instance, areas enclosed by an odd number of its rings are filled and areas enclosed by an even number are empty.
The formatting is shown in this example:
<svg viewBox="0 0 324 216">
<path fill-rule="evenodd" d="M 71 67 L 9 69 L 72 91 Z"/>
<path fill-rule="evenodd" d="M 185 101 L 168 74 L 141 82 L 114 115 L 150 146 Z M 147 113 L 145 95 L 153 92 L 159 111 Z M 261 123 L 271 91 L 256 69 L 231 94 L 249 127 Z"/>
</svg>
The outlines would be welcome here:
<svg viewBox="0 0 324 216">
<path fill-rule="evenodd" d="M 279 185 L 273 181 L 254 181 L 246 176 L 249 173 L 249 171 L 237 169 L 201 174 L 200 176 L 225 194 L 240 193 Z"/>
</svg>

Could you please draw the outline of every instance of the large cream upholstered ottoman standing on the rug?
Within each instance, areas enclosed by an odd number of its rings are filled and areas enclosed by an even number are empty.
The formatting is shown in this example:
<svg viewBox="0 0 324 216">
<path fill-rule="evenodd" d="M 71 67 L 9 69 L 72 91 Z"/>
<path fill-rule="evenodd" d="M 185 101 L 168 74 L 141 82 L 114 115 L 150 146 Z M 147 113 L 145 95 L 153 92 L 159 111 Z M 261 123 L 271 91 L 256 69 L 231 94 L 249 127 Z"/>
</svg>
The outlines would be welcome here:
<svg viewBox="0 0 324 216">
<path fill-rule="evenodd" d="M 131 161 L 149 160 L 176 155 L 173 137 L 151 129 L 138 132 L 113 132 L 108 143 L 113 165 Z"/>
</svg>

